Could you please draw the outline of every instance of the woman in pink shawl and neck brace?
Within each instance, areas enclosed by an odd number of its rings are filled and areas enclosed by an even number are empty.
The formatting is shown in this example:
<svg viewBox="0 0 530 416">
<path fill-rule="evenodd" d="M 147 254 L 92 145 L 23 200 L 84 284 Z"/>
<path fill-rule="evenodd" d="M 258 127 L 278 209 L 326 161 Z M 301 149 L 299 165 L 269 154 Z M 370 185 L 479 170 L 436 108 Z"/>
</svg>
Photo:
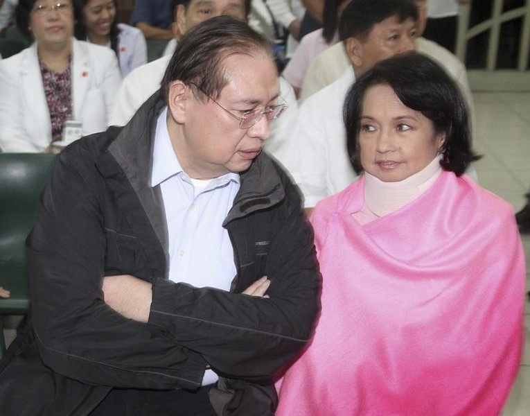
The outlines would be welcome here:
<svg viewBox="0 0 530 416">
<path fill-rule="evenodd" d="M 344 105 L 360 179 L 311 222 L 315 338 L 276 415 L 498 415 L 518 372 L 524 253 L 511 207 L 462 176 L 466 105 L 429 58 L 396 55 Z"/>
</svg>

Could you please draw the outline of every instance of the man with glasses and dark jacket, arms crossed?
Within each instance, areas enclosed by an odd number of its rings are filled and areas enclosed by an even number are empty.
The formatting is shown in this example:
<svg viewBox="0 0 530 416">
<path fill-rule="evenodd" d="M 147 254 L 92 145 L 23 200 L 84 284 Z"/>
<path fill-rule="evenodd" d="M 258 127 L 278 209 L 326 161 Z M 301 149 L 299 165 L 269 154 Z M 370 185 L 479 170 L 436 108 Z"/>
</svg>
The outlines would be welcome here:
<svg viewBox="0 0 530 416">
<path fill-rule="evenodd" d="M 28 238 L 32 320 L 0 366 L 6 414 L 274 413 L 319 272 L 297 190 L 261 153 L 284 108 L 269 44 L 205 21 L 162 90 L 59 156 Z"/>
</svg>

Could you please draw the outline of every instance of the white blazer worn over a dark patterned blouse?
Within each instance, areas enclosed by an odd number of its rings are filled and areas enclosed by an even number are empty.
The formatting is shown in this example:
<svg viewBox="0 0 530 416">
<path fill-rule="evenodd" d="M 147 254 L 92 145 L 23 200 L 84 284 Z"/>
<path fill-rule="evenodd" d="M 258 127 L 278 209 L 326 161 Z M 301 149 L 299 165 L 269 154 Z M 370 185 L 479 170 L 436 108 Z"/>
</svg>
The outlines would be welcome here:
<svg viewBox="0 0 530 416">
<path fill-rule="evenodd" d="M 73 119 L 82 134 L 109 125 L 121 85 L 112 49 L 72 38 Z M 51 143 L 51 121 L 37 58 L 37 43 L 0 61 L 0 150 L 42 152 Z"/>
</svg>

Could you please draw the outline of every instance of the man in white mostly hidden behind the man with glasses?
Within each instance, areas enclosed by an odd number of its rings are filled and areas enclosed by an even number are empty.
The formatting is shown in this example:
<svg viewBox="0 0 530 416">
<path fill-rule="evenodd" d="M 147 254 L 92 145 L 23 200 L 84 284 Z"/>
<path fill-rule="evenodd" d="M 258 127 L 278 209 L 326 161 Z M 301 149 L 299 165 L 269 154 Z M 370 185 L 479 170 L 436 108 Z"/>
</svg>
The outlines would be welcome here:
<svg viewBox="0 0 530 416">
<path fill-rule="evenodd" d="M 193 26 L 211 17 L 229 15 L 247 21 L 250 0 L 177 0 L 174 7 L 175 22 L 172 30 L 179 40 Z M 125 77 L 114 104 L 111 124 L 125 125 L 132 115 L 152 94 L 160 88 L 160 81 L 168 67 L 171 55 L 163 56 L 153 62 L 136 68 Z M 270 137 L 265 150 L 288 168 L 292 174 L 297 166 L 292 132 L 298 116 L 297 99 L 289 83 L 280 78 L 280 94 L 288 103 L 289 110 L 271 126 Z"/>
</svg>

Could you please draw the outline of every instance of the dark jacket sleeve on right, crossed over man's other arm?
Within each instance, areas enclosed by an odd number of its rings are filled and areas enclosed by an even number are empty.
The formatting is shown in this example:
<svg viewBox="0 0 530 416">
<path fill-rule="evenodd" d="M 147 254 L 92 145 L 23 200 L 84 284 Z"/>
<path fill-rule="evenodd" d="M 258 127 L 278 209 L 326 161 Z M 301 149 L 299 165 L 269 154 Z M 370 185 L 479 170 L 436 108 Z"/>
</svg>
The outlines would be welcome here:
<svg viewBox="0 0 530 416">
<path fill-rule="evenodd" d="M 263 227 L 260 220 L 269 218 L 274 229 L 265 268 L 270 299 L 161 279 L 153 286 L 149 323 L 168 331 L 179 345 L 200 352 L 222 376 L 268 379 L 312 336 L 320 274 L 312 229 L 290 182 L 285 200 L 272 211 L 242 219 Z M 245 289 L 245 284 L 238 286 L 238 291 Z"/>
</svg>

